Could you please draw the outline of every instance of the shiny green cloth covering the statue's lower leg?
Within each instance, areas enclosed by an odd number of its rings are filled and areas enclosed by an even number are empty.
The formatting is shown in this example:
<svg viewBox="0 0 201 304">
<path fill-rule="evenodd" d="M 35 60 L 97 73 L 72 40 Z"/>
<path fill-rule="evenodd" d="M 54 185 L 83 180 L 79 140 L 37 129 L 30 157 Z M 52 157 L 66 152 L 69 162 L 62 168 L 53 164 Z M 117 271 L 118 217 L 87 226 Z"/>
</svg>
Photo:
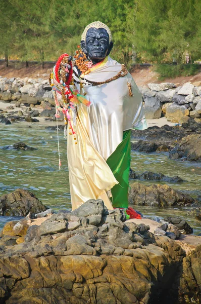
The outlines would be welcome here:
<svg viewBox="0 0 201 304">
<path fill-rule="evenodd" d="M 128 207 L 128 187 L 130 170 L 130 134 L 131 130 L 124 131 L 123 140 L 113 154 L 107 159 L 107 164 L 119 182 L 112 188 L 113 207 Z"/>
</svg>

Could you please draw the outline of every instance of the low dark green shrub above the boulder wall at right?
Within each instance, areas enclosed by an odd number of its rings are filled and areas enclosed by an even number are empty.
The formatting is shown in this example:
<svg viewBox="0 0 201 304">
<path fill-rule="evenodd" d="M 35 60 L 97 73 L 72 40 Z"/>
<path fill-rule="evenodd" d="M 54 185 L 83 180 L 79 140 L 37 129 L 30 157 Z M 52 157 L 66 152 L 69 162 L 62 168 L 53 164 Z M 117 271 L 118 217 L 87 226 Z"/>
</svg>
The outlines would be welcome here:
<svg viewBox="0 0 201 304">
<path fill-rule="evenodd" d="M 159 80 L 165 78 L 176 78 L 179 76 L 187 77 L 200 71 L 199 64 L 156 64 L 154 70 L 159 73 Z"/>
</svg>

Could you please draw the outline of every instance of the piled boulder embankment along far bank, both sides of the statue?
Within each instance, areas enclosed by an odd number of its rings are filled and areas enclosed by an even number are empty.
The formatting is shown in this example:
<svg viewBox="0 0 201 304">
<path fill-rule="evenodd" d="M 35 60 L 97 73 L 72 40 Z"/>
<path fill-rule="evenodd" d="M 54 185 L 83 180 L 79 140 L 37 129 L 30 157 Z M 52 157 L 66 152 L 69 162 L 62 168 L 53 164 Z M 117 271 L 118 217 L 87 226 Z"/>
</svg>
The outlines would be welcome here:
<svg viewBox="0 0 201 304">
<path fill-rule="evenodd" d="M 165 116 L 173 123 L 186 123 L 189 118 L 201 122 L 201 81 L 193 84 L 188 82 L 183 86 L 150 83 L 139 89 L 143 96 L 146 119 Z M 14 110 L 7 112 L 0 109 L 2 123 L 38 122 L 36 117 L 55 120 L 55 101 L 47 79 L 0 77 L 0 100 L 8 103 L 8 110 Z M 15 111 L 15 107 L 20 106 L 21 109 Z"/>
</svg>

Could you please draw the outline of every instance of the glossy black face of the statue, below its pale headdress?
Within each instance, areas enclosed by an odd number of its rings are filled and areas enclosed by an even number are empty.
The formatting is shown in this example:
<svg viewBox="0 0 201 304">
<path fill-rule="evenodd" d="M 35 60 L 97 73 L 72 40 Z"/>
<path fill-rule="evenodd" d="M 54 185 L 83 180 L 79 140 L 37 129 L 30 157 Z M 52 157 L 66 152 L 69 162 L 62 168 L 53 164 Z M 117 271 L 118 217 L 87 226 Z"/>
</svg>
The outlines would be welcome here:
<svg viewBox="0 0 201 304">
<path fill-rule="evenodd" d="M 109 34 L 105 28 L 91 27 L 86 33 L 86 40 L 81 41 L 81 47 L 92 60 L 97 63 L 110 54 L 113 43 L 109 41 Z"/>
</svg>

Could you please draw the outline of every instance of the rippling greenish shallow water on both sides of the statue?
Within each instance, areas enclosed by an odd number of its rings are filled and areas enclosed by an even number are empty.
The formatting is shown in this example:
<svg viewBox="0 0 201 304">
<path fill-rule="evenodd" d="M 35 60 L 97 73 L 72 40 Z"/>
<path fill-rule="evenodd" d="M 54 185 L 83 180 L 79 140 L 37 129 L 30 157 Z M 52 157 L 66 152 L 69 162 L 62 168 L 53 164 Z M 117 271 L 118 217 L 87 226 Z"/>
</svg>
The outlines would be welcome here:
<svg viewBox="0 0 201 304">
<path fill-rule="evenodd" d="M 23 141 L 27 145 L 38 148 L 33 151 L 0 149 L 0 196 L 10 193 L 16 188 L 24 188 L 32 191 L 47 207 L 54 210 L 71 209 L 66 140 L 63 137 L 63 131 L 59 131 L 59 135 L 61 170 L 58 170 L 57 131 L 45 130 L 44 126 L 37 124 L 0 125 L 0 146 Z M 169 160 L 166 153 L 142 154 L 133 151 L 131 168 L 136 172 L 153 171 L 169 176 L 178 175 L 186 182 L 167 184 L 189 193 L 193 197 L 201 192 L 200 163 Z M 146 181 L 144 183 L 165 182 Z M 201 232 L 201 222 L 191 217 L 187 218 L 185 215 L 186 211 L 190 209 L 189 207 L 175 209 L 175 207 L 136 206 L 136 209 L 151 218 L 167 215 L 184 217 L 193 227 L 195 234 Z M 11 217 L 0 217 L 0 227 L 8 220 L 11 220 Z"/>
</svg>

